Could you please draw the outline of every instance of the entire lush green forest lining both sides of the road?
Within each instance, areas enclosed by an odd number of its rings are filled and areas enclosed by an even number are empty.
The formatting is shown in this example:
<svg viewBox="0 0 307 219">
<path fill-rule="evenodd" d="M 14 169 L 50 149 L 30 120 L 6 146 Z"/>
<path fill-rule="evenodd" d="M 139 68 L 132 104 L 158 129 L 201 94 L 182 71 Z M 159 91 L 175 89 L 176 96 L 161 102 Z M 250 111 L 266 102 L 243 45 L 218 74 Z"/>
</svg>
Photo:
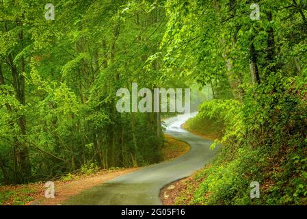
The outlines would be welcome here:
<svg viewBox="0 0 307 219">
<path fill-rule="evenodd" d="M 306 0 L 50 3 L 0 0 L 0 185 L 160 162 L 174 113 L 116 110 L 137 83 L 210 88 L 223 149 L 189 204 L 307 204 Z"/>
</svg>

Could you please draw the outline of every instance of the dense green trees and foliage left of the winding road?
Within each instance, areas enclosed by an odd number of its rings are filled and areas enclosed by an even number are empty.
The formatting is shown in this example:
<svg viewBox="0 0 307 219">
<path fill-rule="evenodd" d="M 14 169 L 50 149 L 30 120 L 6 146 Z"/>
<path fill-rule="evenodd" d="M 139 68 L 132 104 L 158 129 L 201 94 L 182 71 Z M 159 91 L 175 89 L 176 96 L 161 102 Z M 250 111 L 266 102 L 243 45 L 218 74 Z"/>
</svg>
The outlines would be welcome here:
<svg viewBox="0 0 307 219">
<path fill-rule="evenodd" d="M 116 91 L 164 83 L 163 4 L 45 4 L 0 1 L 0 182 L 159 162 L 157 114 L 118 113 Z"/>
</svg>

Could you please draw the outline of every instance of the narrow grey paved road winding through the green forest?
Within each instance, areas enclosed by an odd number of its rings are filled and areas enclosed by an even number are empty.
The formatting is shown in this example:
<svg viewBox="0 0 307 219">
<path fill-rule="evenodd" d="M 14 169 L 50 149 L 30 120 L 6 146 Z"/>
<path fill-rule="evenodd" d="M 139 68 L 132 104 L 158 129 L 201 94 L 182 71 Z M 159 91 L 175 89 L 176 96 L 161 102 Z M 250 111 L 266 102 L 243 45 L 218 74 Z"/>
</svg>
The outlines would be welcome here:
<svg viewBox="0 0 307 219">
<path fill-rule="evenodd" d="M 211 140 L 181 129 L 181 125 L 195 115 L 184 114 L 165 120 L 166 133 L 191 145 L 188 153 L 85 190 L 68 199 L 64 205 L 162 205 L 159 198 L 161 188 L 199 170 L 211 162 L 219 151 L 218 147 L 213 151 L 210 149 Z"/>
</svg>

